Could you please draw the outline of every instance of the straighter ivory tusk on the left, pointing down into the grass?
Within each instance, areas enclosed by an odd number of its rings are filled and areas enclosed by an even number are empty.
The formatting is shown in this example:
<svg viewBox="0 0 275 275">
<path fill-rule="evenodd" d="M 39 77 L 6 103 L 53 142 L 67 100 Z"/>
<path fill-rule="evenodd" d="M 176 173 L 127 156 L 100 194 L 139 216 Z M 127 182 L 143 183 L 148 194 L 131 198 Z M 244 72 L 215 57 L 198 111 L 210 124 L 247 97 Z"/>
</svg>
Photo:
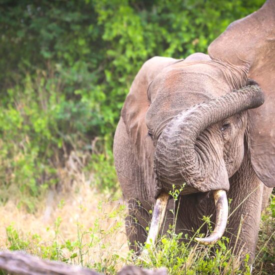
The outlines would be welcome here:
<svg viewBox="0 0 275 275">
<path fill-rule="evenodd" d="M 168 203 L 169 194 L 162 192 L 158 195 L 155 205 L 153 207 L 151 224 L 146 239 L 146 243 L 155 244 L 156 237 L 158 235 L 159 229 L 161 227 L 167 203 Z"/>
</svg>

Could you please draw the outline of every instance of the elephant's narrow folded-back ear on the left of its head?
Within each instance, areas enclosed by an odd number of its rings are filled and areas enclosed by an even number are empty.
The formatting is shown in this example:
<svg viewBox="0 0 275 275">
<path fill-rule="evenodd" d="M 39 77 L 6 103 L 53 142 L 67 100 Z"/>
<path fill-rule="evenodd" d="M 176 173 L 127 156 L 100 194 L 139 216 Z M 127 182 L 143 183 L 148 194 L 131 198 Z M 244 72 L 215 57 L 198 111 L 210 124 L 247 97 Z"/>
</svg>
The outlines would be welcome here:
<svg viewBox="0 0 275 275">
<path fill-rule="evenodd" d="M 147 188 L 147 192 L 142 193 L 148 193 L 148 199 L 151 202 L 154 201 L 153 184 L 150 184 L 153 181 L 154 146 L 145 124 L 145 114 L 150 106 L 147 91 L 150 83 L 164 67 L 179 61 L 182 59 L 158 56 L 147 60 L 136 74 L 121 110 L 121 117 L 131 141 L 135 159 L 142 167 L 141 178 Z"/>
</svg>

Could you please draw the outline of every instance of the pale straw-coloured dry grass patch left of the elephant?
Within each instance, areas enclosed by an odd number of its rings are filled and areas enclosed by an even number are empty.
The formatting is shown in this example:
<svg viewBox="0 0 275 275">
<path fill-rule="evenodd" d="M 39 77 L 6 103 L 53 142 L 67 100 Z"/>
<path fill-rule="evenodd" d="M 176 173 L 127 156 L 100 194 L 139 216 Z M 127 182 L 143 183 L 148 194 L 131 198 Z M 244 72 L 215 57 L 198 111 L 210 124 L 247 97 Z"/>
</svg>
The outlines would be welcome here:
<svg viewBox="0 0 275 275">
<path fill-rule="evenodd" d="M 9 200 L 6 205 L 0 207 L 0 248 L 8 248 L 6 227 L 12 224 L 23 239 L 30 239 L 32 235 L 37 234 L 40 236 L 40 244 L 43 245 L 51 245 L 56 238 L 59 243 L 65 243 L 66 240 L 76 242 L 79 241 L 80 236 L 83 243 L 81 260 L 85 265 L 100 262 L 102 257 L 108 260 L 117 252 L 126 258 L 128 246 L 123 226 L 123 214 L 119 216 L 116 213 L 121 203 L 120 200 L 108 199 L 106 195 L 98 193 L 84 184 L 78 185 L 74 191 L 69 193 L 57 194 L 49 191 L 47 197 L 40 201 L 35 214 L 17 208 L 16 201 Z M 110 217 L 109 214 L 114 212 L 116 215 L 113 218 Z M 57 236 L 56 220 L 61 221 L 57 229 Z M 111 228 L 115 226 L 120 228 L 112 231 Z M 99 236 L 102 238 L 96 240 L 96 245 L 85 246 L 90 242 L 90 233 L 95 227 L 97 233 L 100 230 L 104 232 L 102 236 Z M 106 243 L 109 245 L 104 245 L 105 248 L 102 248 L 102 244 Z M 30 243 L 26 251 L 41 256 L 40 244 L 32 245 Z M 62 249 L 63 258 L 69 258 L 70 255 L 71 252 Z M 81 263 L 76 258 L 71 262 Z"/>
</svg>

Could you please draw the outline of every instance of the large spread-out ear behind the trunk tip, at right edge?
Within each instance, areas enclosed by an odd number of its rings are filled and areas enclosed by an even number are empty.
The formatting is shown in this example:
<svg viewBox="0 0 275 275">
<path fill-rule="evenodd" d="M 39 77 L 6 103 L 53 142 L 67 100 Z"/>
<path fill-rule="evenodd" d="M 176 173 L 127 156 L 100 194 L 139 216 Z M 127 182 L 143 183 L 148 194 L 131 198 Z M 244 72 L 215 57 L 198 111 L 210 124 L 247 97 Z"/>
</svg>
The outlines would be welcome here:
<svg viewBox="0 0 275 275">
<path fill-rule="evenodd" d="M 256 80 L 265 102 L 250 109 L 249 149 L 259 179 L 275 186 L 275 0 L 231 23 L 208 47 L 214 61 L 230 67 L 235 75 Z M 234 75 L 233 73 L 233 75 Z"/>
</svg>

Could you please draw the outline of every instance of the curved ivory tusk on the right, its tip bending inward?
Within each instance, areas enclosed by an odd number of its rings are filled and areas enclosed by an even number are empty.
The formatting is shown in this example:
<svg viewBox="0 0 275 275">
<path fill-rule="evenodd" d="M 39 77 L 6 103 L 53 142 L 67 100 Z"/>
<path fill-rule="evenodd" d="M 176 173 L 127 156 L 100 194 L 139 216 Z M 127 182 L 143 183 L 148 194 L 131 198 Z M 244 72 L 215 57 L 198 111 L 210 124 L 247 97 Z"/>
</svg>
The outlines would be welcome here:
<svg viewBox="0 0 275 275">
<path fill-rule="evenodd" d="M 226 192 L 224 190 L 213 190 L 214 200 L 216 205 L 216 224 L 212 234 L 205 238 L 195 237 L 198 243 L 209 245 L 216 243 L 224 233 L 227 217 L 228 217 L 228 202 Z"/>
</svg>

